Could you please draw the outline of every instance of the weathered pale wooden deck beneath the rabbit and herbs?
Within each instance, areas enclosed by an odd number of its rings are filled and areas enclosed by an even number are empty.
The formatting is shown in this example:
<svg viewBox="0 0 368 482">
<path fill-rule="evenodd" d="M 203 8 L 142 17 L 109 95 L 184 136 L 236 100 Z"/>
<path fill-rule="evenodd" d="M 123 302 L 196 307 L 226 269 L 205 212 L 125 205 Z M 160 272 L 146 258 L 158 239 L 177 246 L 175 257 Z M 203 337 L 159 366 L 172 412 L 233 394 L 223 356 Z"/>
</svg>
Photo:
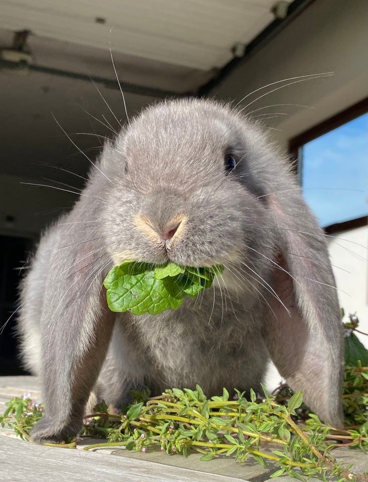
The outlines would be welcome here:
<svg viewBox="0 0 368 482">
<path fill-rule="evenodd" d="M 31 398 L 41 399 L 36 378 L 0 377 L 0 413 L 5 410 L 5 402 L 28 392 Z M 94 442 L 85 438 L 78 448 Z M 345 463 L 354 462 L 356 471 L 366 469 L 366 455 L 348 450 L 338 453 L 338 458 Z M 2 482 L 49 482 L 54 479 L 59 482 L 264 482 L 270 480 L 269 476 L 275 470 L 271 465 L 263 468 L 255 462 L 237 463 L 225 457 L 210 462 L 199 459 L 200 454 L 196 453 L 185 458 L 167 455 L 160 450 L 142 453 L 108 447 L 87 452 L 46 447 L 24 442 L 11 430 L 0 427 Z M 295 479 L 282 477 L 276 480 L 291 482 Z"/>
</svg>

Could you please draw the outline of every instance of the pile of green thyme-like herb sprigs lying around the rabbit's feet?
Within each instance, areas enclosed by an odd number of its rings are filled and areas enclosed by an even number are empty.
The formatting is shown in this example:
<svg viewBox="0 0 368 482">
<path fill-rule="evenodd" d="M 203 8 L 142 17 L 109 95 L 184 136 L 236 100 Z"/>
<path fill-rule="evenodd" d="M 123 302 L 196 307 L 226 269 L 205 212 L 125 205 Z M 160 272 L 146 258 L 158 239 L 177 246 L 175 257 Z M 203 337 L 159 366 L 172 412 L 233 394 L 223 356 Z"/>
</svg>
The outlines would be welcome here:
<svg viewBox="0 0 368 482">
<path fill-rule="evenodd" d="M 344 324 L 344 430 L 321 423 L 303 405 L 302 393 L 292 394 L 284 385 L 271 396 L 264 390 L 257 398 L 251 391 L 250 400 L 239 391 L 237 400 L 230 399 L 225 389 L 222 396 L 208 399 L 197 385 L 196 390 L 174 388 L 154 398 L 149 398 L 148 389 L 133 391 L 134 402 L 119 412 L 112 412 L 102 402 L 86 416 L 81 435 L 108 442 L 85 449 L 122 445 L 145 452 L 156 445 L 167 454 L 186 456 L 195 450 L 202 454 L 201 460 L 225 454 L 241 462 L 253 459 L 262 466 L 272 462 L 276 468 L 272 477 L 288 474 L 299 480 L 310 476 L 321 480 L 335 477 L 340 482 L 368 480 L 366 474 L 354 474 L 351 465 L 344 466 L 330 454 L 338 446 L 365 451 L 367 445 L 368 352 L 354 333 L 357 326 L 356 316 L 349 315 Z M 14 398 L 7 406 L 0 423 L 29 440 L 29 430 L 42 417 L 43 406 L 27 395 Z M 76 441 L 67 442 L 57 446 L 76 445 Z"/>
</svg>

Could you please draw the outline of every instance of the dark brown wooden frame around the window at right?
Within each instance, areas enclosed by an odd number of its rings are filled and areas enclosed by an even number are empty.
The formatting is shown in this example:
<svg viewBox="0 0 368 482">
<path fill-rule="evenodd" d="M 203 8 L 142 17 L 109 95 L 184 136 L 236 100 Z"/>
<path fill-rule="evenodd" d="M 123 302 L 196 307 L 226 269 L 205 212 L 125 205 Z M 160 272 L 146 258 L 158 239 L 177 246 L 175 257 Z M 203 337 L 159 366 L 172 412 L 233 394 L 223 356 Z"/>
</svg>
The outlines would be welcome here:
<svg viewBox="0 0 368 482">
<path fill-rule="evenodd" d="M 338 112 L 337 114 L 329 117 L 325 121 L 317 124 L 316 126 L 312 127 L 308 131 L 305 131 L 298 136 L 293 137 L 289 141 L 289 155 L 290 160 L 293 162 L 295 166 L 295 170 L 298 170 L 298 157 L 299 157 L 299 149 L 314 139 L 317 139 L 323 134 L 327 134 L 330 131 L 333 131 L 337 127 L 346 124 L 349 121 L 352 121 L 354 118 L 359 117 L 359 115 L 363 115 L 368 112 L 368 97 L 360 102 L 357 102 L 354 105 L 351 105 L 347 109 Z M 329 226 L 324 227 L 324 231 L 326 233 L 331 232 L 338 232 L 344 231 L 346 229 L 353 229 L 355 227 L 365 226 L 368 223 L 368 216 L 358 217 L 356 219 L 350 219 L 348 221 L 338 222 L 334 224 L 330 224 Z"/>
</svg>

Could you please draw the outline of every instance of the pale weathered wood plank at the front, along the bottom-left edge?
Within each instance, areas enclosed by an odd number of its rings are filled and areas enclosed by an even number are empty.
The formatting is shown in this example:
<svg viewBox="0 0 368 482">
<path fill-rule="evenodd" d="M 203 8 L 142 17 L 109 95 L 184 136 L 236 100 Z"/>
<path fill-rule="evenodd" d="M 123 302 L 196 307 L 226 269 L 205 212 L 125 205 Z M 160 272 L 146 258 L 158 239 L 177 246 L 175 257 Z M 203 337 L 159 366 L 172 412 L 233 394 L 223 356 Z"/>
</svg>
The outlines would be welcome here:
<svg viewBox="0 0 368 482">
<path fill-rule="evenodd" d="M 209 474 L 161 463 L 103 453 L 45 447 L 2 437 L 3 482 L 244 482 L 232 476 Z"/>
</svg>

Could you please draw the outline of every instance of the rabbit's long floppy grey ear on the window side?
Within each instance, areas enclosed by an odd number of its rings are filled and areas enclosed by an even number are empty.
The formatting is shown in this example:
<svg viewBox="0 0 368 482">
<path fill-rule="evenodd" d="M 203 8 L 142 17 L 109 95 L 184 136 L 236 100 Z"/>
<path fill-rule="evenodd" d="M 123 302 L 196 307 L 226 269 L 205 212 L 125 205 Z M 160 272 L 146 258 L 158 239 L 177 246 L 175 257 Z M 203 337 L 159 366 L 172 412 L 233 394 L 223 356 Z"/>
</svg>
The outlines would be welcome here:
<svg viewBox="0 0 368 482">
<path fill-rule="evenodd" d="M 291 389 L 302 390 L 324 422 L 341 427 L 343 337 L 335 280 L 324 233 L 292 187 L 268 196 L 279 250 L 273 288 L 290 314 L 273 298 L 263 334 Z"/>
</svg>

